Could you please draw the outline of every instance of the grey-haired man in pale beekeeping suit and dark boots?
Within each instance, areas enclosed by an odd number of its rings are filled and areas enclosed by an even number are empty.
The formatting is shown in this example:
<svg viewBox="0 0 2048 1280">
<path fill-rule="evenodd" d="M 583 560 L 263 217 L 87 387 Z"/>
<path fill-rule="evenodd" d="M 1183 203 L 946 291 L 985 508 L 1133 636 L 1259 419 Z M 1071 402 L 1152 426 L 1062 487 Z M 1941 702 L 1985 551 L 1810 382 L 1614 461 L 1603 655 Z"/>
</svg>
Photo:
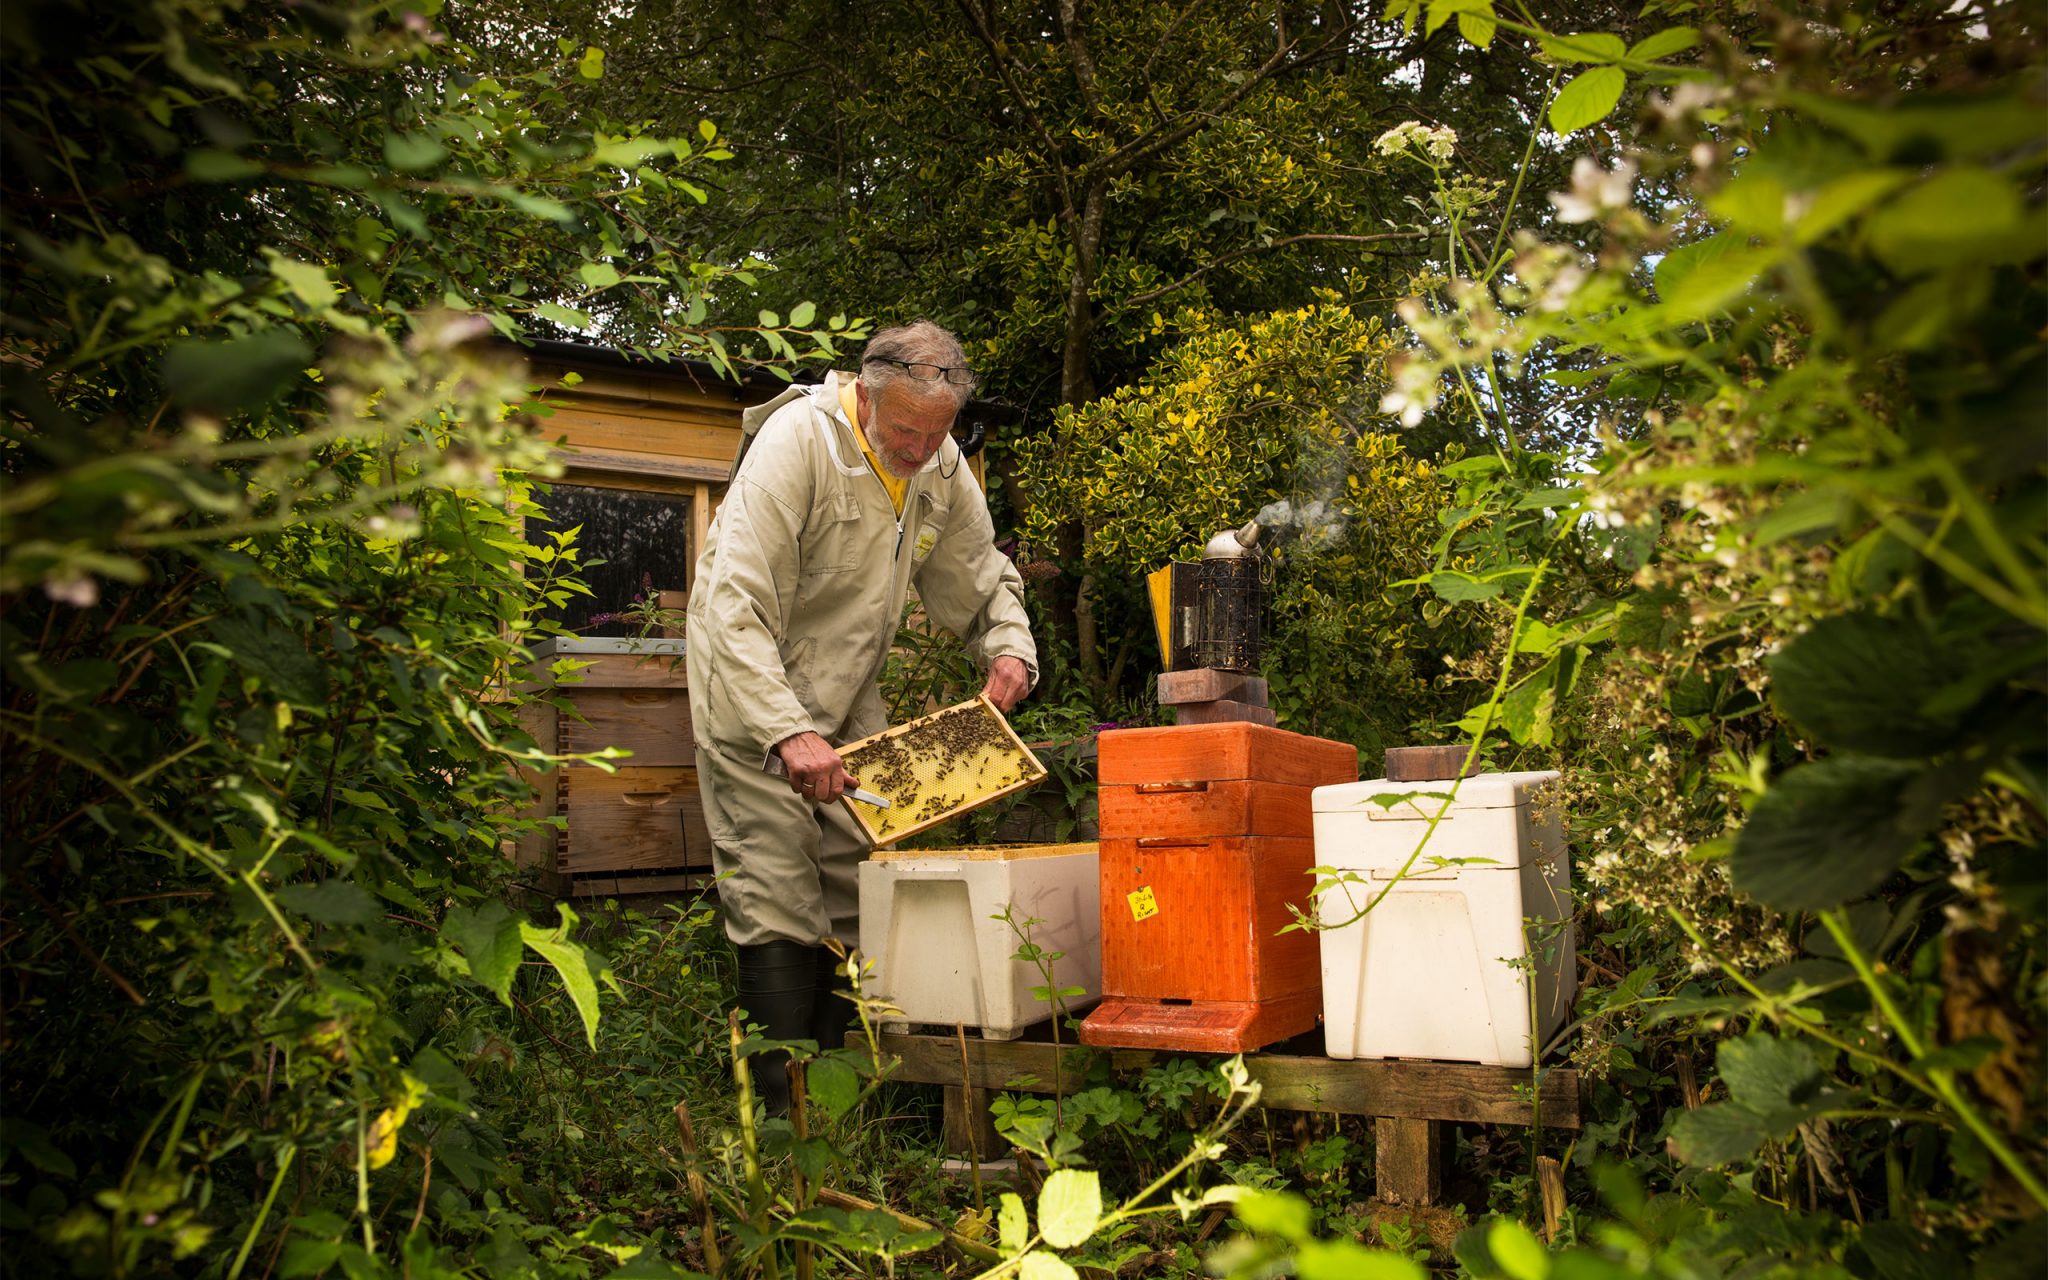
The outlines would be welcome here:
<svg viewBox="0 0 2048 1280">
<path fill-rule="evenodd" d="M 834 1047 L 852 1020 L 823 946 L 858 944 L 866 856 L 838 748 L 887 727 L 874 682 L 907 590 L 967 641 L 995 707 L 1036 680 L 1024 584 L 950 434 L 973 387 L 961 342 L 920 319 L 874 334 L 858 377 L 741 416 L 690 588 L 690 725 L 739 1008 L 770 1038 Z M 784 1112 L 782 1059 L 756 1063 Z"/>
</svg>

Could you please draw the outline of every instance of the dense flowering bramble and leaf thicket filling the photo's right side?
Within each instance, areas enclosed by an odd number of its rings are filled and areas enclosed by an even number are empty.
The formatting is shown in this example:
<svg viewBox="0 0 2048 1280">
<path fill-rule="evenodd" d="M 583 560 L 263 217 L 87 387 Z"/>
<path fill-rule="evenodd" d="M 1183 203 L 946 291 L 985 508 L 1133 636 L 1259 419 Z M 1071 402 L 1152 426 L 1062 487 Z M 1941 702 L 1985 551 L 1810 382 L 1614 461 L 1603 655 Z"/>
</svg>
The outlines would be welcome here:
<svg viewBox="0 0 2048 1280">
<path fill-rule="evenodd" d="M 2048 1208 L 2038 37 L 1831 10 L 1628 45 L 1393 10 L 1554 63 L 1530 147 L 1640 94 L 1544 233 L 1444 131 L 1380 139 L 1436 176 L 1444 246 L 1380 410 L 1493 446 L 1446 467 L 1417 580 L 1497 637 L 1464 727 L 1567 768 L 1595 922 L 1679 946 L 1595 1004 L 1745 1032 L 1669 1126 L 1686 1161 L 1917 1217 L 1915 1249 L 2001 1235 Z"/>
</svg>

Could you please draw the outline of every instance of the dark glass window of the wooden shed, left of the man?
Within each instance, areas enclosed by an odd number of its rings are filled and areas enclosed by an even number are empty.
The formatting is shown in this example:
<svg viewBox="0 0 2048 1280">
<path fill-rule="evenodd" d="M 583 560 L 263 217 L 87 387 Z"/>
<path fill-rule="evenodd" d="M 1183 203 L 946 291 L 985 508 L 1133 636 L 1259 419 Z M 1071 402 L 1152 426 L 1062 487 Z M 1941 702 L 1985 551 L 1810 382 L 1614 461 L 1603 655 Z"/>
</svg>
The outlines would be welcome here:
<svg viewBox="0 0 2048 1280">
<path fill-rule="evenodd" d="M 682 592 L 690 582 L 690 498 L 651 489 L 614 489 L 557 483 L 535 494 L 545 516 L 530 516 L 526 541 L 541 543 L 547 530 L 578 528 L 575 549 L 584 565 L 580 578 L 590 596 L 547 610 L 580 635 L 633 635 L 627 623 L 592 623 L 633 606 L 651 590 Z M 592 565 L 602 559 L 604 563 Z M 526 575 L 541 573 L 528 565 Z"/>
</svg>

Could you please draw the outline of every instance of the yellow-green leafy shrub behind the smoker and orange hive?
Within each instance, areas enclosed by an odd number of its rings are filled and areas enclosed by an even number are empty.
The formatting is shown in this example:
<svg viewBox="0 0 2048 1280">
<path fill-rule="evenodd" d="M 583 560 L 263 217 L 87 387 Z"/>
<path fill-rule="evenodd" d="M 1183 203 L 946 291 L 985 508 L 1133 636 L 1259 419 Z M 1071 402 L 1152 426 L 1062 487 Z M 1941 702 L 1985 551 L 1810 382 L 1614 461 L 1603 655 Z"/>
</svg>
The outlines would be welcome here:
<svg viewBox="0 0 2048 1280">
<path fill-rule="evenodd" d="M 1378 322 L 1317 305 L 1184 326 L 1145 381 L 1020 446 L 1026 537 L 1053 541 L 1073 520 L 1092 571 L 1137 582 L 1257 516 L 1284 539 L 1266 664 L 1282 721 L 1368 748 L 1401 741 L 1427 700 L 1430 657 L 1419 612 L 1386 588 L 1427 565 L 1440 487 L 1370 426 Z"/>
</svg>

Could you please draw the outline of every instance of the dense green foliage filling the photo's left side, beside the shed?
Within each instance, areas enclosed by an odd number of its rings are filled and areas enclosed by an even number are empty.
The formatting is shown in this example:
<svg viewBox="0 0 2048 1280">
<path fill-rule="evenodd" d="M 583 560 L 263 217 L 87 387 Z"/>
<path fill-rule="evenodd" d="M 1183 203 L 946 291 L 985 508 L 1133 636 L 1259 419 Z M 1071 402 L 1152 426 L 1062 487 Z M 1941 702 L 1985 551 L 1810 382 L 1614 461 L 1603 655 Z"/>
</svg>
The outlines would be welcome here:
<svg viewBox="0 0 2048 1280">
<path fill-rule="evenodd" d="M 588 1274 L 616 1223 L 520 1178 L 588 1130 L 518 1081 L 623 987 L 506 905 L 582 549 L 524 537 L 502 338 L 827 340 L 676 319 L 729 154 L 586 113 L 602 53 L 500 78 L 432 6 L 258 2 L 0 45 L 10 1262 Z"/>
</svg>

